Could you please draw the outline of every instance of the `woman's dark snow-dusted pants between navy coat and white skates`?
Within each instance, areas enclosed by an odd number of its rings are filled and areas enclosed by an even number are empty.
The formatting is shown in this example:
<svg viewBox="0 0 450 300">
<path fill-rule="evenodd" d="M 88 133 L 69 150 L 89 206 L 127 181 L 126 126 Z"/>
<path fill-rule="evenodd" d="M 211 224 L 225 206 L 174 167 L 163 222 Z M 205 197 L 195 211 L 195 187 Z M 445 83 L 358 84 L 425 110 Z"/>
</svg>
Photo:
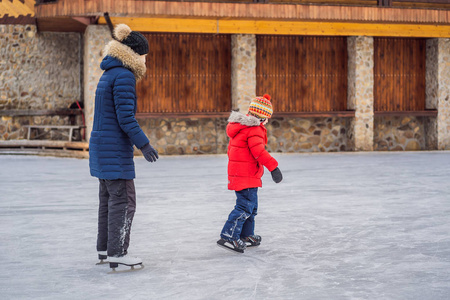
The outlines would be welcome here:
<svg viewBox="0 0 450 300">
<path fill-rule="evenodd" d="M 131 223 L 136 211 L 133 180 L 99 179 L 97 251 L 122 256 L 130 244 Z"/>
</svg>

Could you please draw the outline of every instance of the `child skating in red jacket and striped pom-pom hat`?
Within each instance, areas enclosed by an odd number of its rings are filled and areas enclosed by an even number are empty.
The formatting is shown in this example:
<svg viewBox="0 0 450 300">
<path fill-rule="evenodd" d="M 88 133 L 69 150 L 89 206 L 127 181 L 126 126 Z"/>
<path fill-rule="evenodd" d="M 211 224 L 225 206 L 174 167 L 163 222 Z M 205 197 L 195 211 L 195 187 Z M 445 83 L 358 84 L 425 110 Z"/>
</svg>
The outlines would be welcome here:
<svg viewBox="0 0 450 300">
<path fill-rule="evenodd" d="M 228 119 L 228 189 L 236 192 L 236 206 L 217 241 L 219 246 L 243 253 L 247 245 L 258 246 L 261 237 L 255 235 L 255 216 L 258 210 L 258 187 L 266 167 L 276 183 L 283 176 L 278 162 L 265 150 L 267 130 L 264 125 L 272 116 L 270 96 L 256 97 L 248 114 L 232 112 Z M 263 167 L 264 166 L 264 167 Z"/>
</svg>

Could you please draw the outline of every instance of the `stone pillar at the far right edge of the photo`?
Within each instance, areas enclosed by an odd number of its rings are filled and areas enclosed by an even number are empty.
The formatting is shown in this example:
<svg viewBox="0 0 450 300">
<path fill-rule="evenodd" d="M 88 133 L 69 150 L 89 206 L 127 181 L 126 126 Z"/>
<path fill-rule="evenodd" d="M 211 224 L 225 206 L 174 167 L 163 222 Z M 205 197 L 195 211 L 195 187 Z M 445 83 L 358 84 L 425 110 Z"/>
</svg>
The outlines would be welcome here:
<svg viewBox="0 0 450 300">
<path fill-rule="evenodd" d="M 450 149 L 450 39 L 427 40 L 426 108 L 437 109 L 427 125 L 427 148 Z"/>
</svg>

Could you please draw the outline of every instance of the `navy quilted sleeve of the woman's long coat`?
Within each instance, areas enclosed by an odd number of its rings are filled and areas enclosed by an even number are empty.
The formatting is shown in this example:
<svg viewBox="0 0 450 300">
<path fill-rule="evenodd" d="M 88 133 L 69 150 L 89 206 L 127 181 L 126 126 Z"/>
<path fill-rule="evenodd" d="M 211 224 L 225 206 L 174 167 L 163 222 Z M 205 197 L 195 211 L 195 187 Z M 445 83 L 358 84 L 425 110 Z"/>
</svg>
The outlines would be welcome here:
<svg viewBox="0 0 450 300">
<path fill-rule="evenodd" d="M 119 126 L 139 149 L 149 140 L 134 117 L 136 98 L 136 78 L 131 72 L 123 72 L 116 78 L 114 88 L 114 105 Z"/>
</svg>

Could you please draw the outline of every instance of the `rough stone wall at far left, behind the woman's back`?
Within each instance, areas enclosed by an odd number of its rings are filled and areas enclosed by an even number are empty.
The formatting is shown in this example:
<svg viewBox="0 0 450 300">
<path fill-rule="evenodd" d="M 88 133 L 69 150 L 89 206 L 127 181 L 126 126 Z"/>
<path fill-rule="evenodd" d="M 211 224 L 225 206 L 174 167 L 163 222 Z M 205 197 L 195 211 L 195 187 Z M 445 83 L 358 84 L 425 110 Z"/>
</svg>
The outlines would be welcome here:
<svg viewBox="0 0 450 300">
<path fill-rule="evenodd" d="M 78 33 L 0 25 L 0 110 L 62 109 L 81 100 L 80 40 Z M 24 138 L 29 124 L 69 124 L 69 117 L 2 116 L 0 140 Z"/>
</svg>

